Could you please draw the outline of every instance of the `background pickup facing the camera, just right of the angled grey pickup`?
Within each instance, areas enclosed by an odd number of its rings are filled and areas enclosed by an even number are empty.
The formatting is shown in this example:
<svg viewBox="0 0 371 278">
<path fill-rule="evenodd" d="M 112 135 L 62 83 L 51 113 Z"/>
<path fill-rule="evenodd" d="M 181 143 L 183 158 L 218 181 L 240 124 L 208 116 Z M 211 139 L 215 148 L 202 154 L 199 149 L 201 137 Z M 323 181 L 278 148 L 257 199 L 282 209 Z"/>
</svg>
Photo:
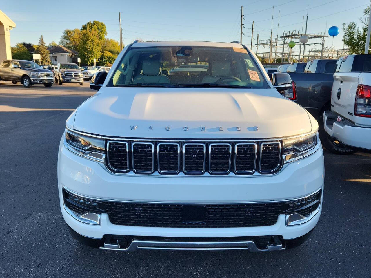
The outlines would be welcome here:
<svg viewBox="0 0 371 278">
<path fill-rule="evenodd" d="M 79 66 L 75 63 L 58 63 L 54 70 L 55 82 L 59 85 L 63 83 L 80 83 L 84 85 L 83 74 Z"/>
</svg>

